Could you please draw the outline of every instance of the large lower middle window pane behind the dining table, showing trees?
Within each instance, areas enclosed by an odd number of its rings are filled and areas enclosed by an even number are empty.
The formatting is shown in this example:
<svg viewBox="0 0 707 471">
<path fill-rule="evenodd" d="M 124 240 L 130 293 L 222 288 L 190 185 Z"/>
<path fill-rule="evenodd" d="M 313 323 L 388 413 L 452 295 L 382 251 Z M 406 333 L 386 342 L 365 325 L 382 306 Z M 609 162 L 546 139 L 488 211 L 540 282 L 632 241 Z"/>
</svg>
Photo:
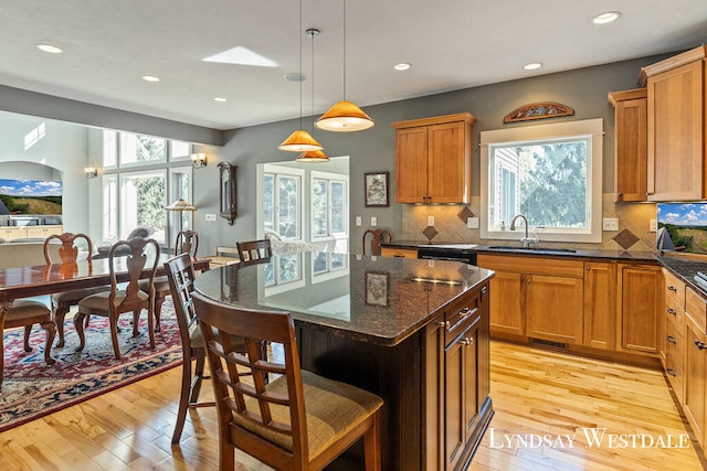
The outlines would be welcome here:
<svg viewBox="0 0 707 471">
<path fill-rule="evenodd" d="M 120 178 L 120 232 L 126 236 L 139 226 L 155 228 L 152 237 L 165 242 L 167 191 L 165 173 L 139 173 Z"/>
</svg>

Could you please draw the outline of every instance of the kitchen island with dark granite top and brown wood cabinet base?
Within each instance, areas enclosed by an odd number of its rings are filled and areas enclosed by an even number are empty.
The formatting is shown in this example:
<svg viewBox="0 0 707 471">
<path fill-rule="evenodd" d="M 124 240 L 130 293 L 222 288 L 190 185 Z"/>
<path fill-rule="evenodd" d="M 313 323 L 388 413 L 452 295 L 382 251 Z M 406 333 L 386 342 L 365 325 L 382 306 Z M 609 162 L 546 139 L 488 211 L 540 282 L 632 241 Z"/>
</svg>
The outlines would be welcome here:
<svg viewBox="0 0 707 471">
<path fill-rule="evenodd" d="M 492 277 L 455 261 L 306 253 L 213 269 L 196 289 L 292 312 L 303 368 L 381 396 L 382 469 L 455 470 L 493 416 Z M 362 469 L 361 450 L 328 469 Z"/>
</svg>

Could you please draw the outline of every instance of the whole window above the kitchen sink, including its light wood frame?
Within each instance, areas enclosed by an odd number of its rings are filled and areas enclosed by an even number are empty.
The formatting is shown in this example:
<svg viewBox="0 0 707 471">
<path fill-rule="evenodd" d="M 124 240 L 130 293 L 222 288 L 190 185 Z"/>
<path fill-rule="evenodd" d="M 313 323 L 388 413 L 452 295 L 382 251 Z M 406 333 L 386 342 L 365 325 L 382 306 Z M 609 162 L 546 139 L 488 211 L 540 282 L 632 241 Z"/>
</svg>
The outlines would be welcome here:
<svg viewBox="0 0 707 471">
<path fill-rule="evenodd" d="M 523 214 L 541 240 L 601 242 L 601 119 L 482 132 L 482 237 L 518 239 Z"/>
</svg>

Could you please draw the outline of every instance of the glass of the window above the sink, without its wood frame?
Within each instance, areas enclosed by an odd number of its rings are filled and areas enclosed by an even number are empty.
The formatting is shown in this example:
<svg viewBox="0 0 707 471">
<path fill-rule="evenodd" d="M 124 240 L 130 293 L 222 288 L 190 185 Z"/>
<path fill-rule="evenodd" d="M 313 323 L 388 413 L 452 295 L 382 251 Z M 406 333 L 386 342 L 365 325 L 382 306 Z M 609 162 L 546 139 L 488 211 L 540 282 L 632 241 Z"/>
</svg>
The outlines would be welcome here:
<svg viewBox="0 0 707 471">
<path fill-rule="evenodd" d="M 490 227 L 521 213 L 529 226 L 587 228 L 590 146 L 589 138 L 492 146 Z"/>
</svg>

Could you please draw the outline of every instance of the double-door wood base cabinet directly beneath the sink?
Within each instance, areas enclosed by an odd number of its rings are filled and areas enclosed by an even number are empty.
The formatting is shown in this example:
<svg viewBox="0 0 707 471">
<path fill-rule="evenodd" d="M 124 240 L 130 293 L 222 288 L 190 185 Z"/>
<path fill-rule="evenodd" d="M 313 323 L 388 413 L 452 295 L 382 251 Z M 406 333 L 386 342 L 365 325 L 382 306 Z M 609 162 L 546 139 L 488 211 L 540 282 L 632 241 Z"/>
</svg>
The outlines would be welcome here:
<svg viewBox="0 0 707 471">
<path fill-rule="evenodd" d="M 478 266 L 496 271 L 490 281 L 490 329 L 560 343 L 581 343 L 581 260 L 478 255 Z"/>
</svg>

